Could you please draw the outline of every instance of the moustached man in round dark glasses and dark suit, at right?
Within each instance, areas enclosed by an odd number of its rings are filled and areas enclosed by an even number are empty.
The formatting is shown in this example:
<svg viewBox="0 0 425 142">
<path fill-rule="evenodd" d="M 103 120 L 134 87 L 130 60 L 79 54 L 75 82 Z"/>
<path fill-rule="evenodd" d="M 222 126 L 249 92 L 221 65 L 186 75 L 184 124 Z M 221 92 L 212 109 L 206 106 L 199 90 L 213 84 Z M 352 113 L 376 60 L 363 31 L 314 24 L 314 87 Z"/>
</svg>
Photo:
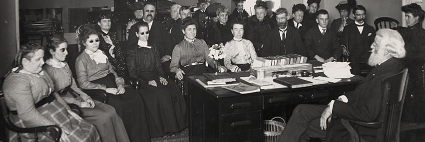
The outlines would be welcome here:
<svg viewBox="0 0 425 142">
<path fill-rule="evenodd" d="M 369 56 L 375 29 L 365 22 L 366 8 L 363 5 L 357 5 L 353 8 L 353 16 L 355 21 L 345 26 L 341 34 L 340 43 L 343 48 L 343 54 L 349 55 L 351 73 L 360 75 L 361 64 L 358 62 L 361 61 L 359 56 Z"/>
</svg>

